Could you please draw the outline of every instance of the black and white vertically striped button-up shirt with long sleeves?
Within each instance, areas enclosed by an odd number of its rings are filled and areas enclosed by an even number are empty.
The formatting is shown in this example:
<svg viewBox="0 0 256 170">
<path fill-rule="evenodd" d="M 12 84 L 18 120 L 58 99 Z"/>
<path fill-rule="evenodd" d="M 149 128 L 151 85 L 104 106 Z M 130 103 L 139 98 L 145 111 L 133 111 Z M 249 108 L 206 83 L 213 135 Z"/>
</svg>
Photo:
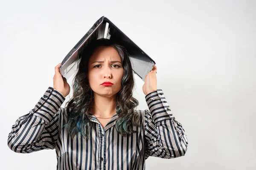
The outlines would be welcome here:
<svg viewBox="0 0 256 170">
<path fill-rule="evenodd" d="M 18 118 L 8 136 L 8 146 L 17 153 L 55 149 L 57 170 L 144 170 L 149 156 L 172 159 L 184 156 L 188 140 L 175 120 L 161 89 L 145 96 L 148 109 L 140 114 L 137 133 L 121 136 L 115 128 L 115 114 L 103 128 L 93 114 L 91 138 L 73 139 L 63 125 L 67 123 L 65 97 L 49 87 L 29 113 Z"/>
</svg>

